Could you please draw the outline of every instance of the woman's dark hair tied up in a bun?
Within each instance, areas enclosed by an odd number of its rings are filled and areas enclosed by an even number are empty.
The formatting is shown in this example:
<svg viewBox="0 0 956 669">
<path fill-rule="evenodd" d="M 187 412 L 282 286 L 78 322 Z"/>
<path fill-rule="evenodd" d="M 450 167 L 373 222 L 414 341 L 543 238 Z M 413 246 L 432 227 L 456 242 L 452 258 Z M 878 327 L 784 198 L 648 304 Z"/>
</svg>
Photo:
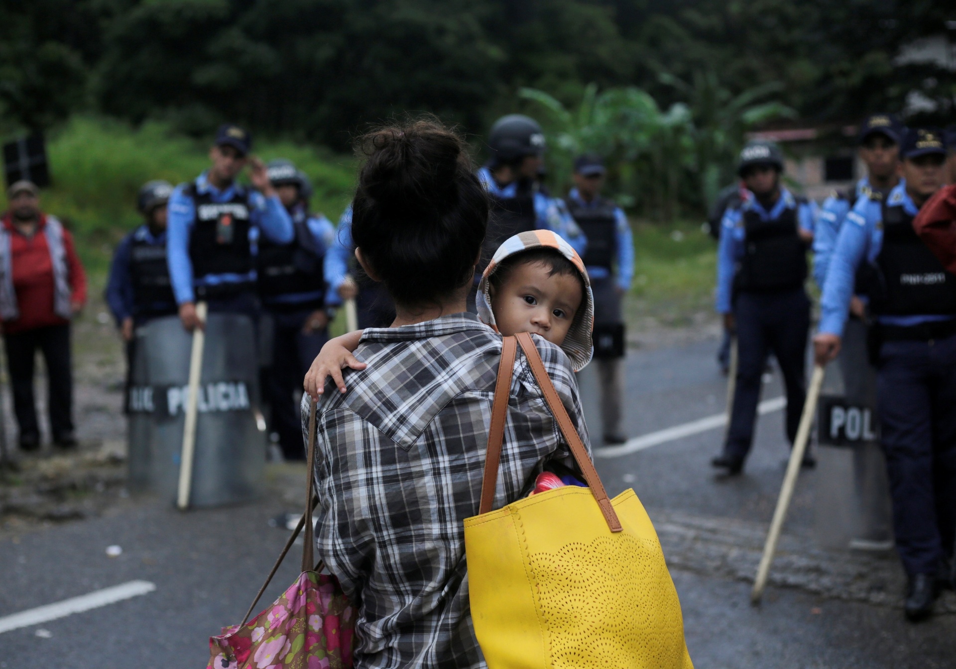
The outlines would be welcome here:
<svg viewBox="0 0 956 669">
<path fill-rule="evenodd" d="M 359 139 L 367 159 L 352 239 L 396 303 L 434 303 L 470 282 L 489 200 L 461 136 L 424 118 Z"/>
</svg>

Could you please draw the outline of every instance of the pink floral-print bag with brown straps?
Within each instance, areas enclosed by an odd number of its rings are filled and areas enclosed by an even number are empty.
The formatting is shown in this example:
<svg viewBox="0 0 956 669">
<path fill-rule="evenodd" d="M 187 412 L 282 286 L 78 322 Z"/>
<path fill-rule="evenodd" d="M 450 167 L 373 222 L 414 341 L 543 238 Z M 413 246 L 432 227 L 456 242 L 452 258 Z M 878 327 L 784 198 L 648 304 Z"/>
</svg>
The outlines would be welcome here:
<svg viewBox="0 0 956 669">
<path fill-rule="evenodd" d="M 309 503 L 242 623 L 224 627 L 222 635 L 209 638 L 206 669 L 349 669 L 353 665 L 356 609 L 342 593 L 335 576 L 318 574 L 319 565 L 313 568 L 312 512 L 318 500 L 312 492 L 315 402 L 311 404 L 306 486 Z M 305 546 L 298 580 L 247 623 L 303 527 Z"/>
</svg>

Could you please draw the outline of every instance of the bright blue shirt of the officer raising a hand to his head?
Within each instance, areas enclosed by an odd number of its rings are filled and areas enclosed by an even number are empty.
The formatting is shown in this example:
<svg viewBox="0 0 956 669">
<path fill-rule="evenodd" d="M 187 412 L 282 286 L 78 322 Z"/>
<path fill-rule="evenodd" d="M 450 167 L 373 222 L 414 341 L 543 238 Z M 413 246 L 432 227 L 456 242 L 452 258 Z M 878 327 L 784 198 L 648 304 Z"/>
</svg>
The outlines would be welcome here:
<svg viewBox="0 0 956 669">
<path fill-rule="evenodd" d="M 216 202 L 232 199 L 237 191 L 245 186 L 232 183 L 225 190 L 219 190 L 209 183 L 204 172 L 196 178 L 196 192 L 209 193 Z M 194 277 L 192 261 L 189 259 L 189 235 L 196 222 L 196 203 L 185 195 L 186 184 L 178 185 L 169 198 L 169 219 L 166 226 L 166 259 L 169 263 L 169 281 L 173 284 L 173 294 L 177 303 L 194 302 L 193 287 L 223 282 L 254 282 L 255 270 L 247 275 L 207 274 Z M 293 240 L 293 221 L 278 197 L 264 198 L 261 193 L 251 191 L 249 195 L 250 223 L 252 230 L 261 229 L 272 241 L 285 244 Z M 251 231 L 250 231 L 251 233 Z"/>
</svg>

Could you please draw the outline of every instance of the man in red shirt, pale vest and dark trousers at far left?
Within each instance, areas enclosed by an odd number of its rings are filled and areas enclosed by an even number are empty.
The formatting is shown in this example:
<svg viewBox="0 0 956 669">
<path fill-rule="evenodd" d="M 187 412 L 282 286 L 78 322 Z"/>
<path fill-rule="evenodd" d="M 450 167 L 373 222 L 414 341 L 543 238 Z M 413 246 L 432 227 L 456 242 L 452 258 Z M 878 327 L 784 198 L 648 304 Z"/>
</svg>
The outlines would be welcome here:
<svg viewBox="0 0 956 669">
<path fill-rule="evenodd" d="M 59 220 L 40 211 L 38 195 L 30 181 L 11 185 L 10 210 L 0 223 L 0 324 L 24 450 L 40 446 L 33 402 L 37 348 L 46 361 L 54 444 L 76 446 L 70 319 L 86 302 L 86 276 L 73 237 Z"/>
</svg>

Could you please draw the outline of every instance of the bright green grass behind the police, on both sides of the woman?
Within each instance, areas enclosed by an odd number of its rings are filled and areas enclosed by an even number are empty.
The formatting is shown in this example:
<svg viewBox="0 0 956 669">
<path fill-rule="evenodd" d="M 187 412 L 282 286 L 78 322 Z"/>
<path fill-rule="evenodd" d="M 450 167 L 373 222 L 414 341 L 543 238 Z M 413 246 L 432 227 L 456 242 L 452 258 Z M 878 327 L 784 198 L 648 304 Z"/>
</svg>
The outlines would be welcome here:
<svg viewBox="0 0 956 669">
<path fill-rule="evenodd" d="M 209 163 L 207 141 L 174 135 L 161 124 L 132 128 L 86 116 L 51 134 L 47 151 L 54 184 L 44 190 L 41 205 L 67 221 L 95 293 L 102 289 L 117 242 L 141 222 L 136 211 L 141 185 L 154 178 L 172 183 L 195 178 Z M 257 142 L 255 153 L 264 160 L 293 160 L 312 180 L 313 210 L 334 221 L 352 197 L 352 157 L 268 139 Z M 2 193 L 0 208 L 6 208 Z M 652 317 L 684 325 L 694 313 L 710 309 L 715 244 L 699 224 L 635 220 L 632 227 L 635 272 L 628 320 Z"/>
</svg>

